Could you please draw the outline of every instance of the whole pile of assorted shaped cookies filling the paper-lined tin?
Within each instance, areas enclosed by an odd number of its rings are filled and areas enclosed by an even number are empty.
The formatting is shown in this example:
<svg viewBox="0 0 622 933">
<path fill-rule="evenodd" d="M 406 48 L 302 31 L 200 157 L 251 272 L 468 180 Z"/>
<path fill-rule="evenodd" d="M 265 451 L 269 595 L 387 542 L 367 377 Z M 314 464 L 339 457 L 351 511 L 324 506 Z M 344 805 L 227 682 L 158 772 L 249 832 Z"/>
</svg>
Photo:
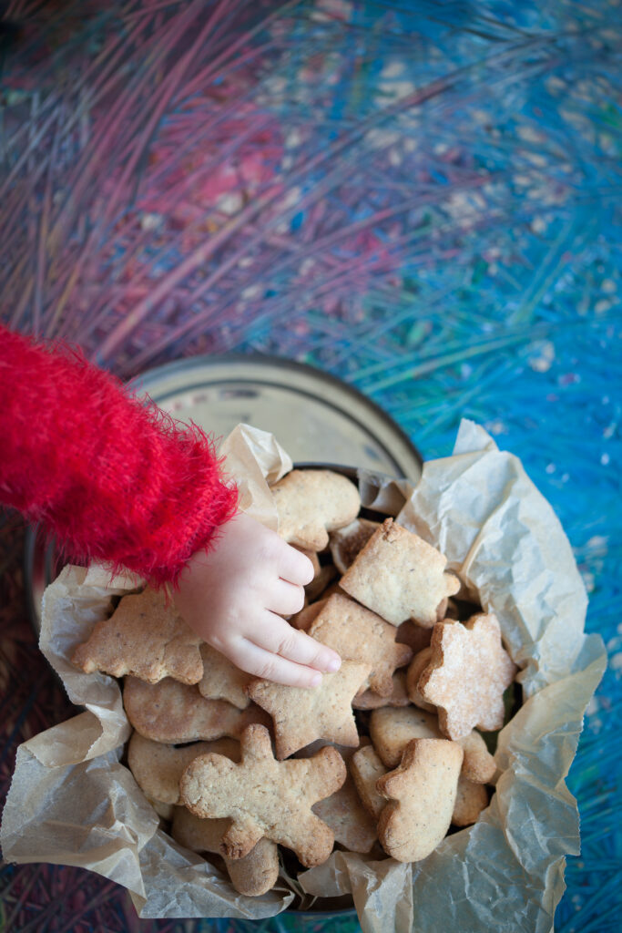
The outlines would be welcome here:
<svg viewBox="0 0 622 933">
<path fill-rule="evenodd" d="M 339 652 L 337 673 L 316 689 L 251 678 L 149 588 L 72 659 L 124 678 L 137 784 L 173 839 L 248 896 L 277 883 L 278 846 L 302 867 L 336 844 L 410 862 L 475 822 L 495 775 L 480 731 L 504 725 L 517 673 L 445 557 L 362 517 L 350 480 L 293 470 L 271 491 L 279 533 L 316 569 L 290 622 Z"/>
</svg>

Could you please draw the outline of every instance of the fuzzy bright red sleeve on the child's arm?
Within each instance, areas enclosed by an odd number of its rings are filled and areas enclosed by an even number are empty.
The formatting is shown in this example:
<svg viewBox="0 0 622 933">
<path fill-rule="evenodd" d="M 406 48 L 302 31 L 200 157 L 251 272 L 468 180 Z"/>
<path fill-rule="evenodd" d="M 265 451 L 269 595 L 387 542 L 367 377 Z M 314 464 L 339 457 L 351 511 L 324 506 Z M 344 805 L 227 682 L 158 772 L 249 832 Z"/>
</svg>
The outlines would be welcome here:
<svg viewBox="0 0 622 933">
<path fill-rule="evenodd" d="M 234 514 L 212 441 L 145 407 L 79 351 L 0 326 L 0 504 L 68 557 L 174 581 Z"/>
</svg>

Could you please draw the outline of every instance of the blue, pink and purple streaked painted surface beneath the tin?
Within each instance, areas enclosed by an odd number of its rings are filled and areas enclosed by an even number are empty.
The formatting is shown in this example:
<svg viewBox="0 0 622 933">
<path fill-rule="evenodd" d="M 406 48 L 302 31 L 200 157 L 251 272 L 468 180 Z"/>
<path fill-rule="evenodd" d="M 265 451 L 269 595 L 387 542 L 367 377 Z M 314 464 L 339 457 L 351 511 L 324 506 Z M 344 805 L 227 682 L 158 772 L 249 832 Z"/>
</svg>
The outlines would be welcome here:
<svg viewBox="0 0 622 933">
<path fill-rule="evenodd" d="M 622 7 L 13 0 L 0 50 L 0 315 L 128 377 L 269 352 L 361 389 L 427 458 L 462 416 L 574 546 L 609 667 L 568 783 L 559 933 L 620 929 Z M 70 715 L 0 519 L 0 782 Z M 138 921 L 79 870 L 2 870 L 7 931 L 351 933 Z"/>
</svg>

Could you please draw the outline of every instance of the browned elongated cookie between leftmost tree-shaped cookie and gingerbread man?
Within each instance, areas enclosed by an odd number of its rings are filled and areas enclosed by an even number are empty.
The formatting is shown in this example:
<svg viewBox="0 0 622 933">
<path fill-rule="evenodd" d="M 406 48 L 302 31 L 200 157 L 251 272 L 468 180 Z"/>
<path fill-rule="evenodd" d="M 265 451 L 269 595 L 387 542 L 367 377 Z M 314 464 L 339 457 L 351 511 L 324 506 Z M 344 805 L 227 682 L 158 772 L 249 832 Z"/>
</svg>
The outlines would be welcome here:
<svg viewBox="0 0 622 933">
<path fill-rule="evenodd" d="M 209 741 L 223 735 L 239 738 L 251 723 L 270 723 L 270 718 L 255 705 L 239 710 L 225 700 L 205 700 L 196 685 L 180 684 L 171 677 L 158 684 L 126 677 L 123 705 L 131 725 L 145 739 L 170 745 Z"/>
</svg>

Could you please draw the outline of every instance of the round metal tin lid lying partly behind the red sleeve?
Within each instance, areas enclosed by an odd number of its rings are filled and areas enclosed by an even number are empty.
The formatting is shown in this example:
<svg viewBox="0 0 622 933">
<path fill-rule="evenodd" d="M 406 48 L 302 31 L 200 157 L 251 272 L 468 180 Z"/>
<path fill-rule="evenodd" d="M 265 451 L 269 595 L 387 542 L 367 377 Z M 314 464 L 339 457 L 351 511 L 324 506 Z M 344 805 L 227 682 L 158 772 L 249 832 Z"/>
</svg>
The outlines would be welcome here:
<svg viewBox="0 0 622 933">
<path fill-rule="evenodd" d="M 416 481 L 422 457 L 377 405 L 319 369 L 270 356 L 193 356 L 131 383 L 179 421 L 215 437 L 241 422 L 270 431 L 295 463 L 363 466 Z M 61 569 L 40 527 L 25 542 L 28 611 L 38 631 L 41 597 Z"/>
</svg>

